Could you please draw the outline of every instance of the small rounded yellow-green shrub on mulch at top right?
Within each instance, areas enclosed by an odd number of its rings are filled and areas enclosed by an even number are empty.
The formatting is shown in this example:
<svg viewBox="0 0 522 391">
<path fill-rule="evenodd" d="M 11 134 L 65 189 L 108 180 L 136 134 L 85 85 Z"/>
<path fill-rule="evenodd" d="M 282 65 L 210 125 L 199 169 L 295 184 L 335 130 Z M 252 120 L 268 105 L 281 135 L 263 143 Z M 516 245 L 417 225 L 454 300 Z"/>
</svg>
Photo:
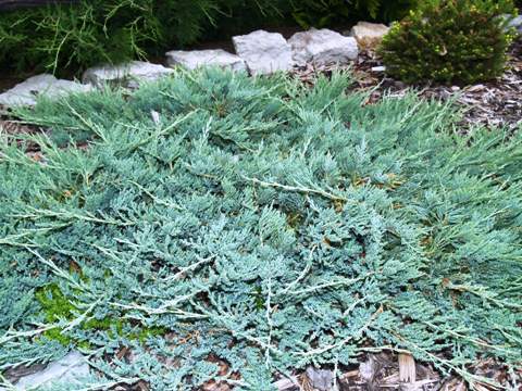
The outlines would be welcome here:
<svg viewBox="0 0 522 391">
<path fill-rule="evenodd" d="M 407 83 L 471 84 L 502 74 L 511 40 L 501 13 L 511 0 L 426 1 L 384 38 L 386 71 Z"/>
</svg>

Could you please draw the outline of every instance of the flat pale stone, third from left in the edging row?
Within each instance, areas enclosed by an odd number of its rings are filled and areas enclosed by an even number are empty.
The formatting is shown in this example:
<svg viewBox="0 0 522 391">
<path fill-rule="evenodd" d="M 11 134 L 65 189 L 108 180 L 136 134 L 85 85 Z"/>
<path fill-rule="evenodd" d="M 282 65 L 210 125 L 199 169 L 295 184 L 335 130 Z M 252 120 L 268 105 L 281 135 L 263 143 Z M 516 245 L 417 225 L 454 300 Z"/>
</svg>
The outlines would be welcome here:
<svg viewBox="0 0 522 391">
<path fill-rule="evenodd" d="M 236 54 L 228 53 L 223 49 L 215 50 L 173 50 L 166 52 L 169 66 L 181 65 L 187 70 L 196 70 L 201 66 L 221 66 L 233 71 L 246 71 L 245 61 Z"/>
</svg>

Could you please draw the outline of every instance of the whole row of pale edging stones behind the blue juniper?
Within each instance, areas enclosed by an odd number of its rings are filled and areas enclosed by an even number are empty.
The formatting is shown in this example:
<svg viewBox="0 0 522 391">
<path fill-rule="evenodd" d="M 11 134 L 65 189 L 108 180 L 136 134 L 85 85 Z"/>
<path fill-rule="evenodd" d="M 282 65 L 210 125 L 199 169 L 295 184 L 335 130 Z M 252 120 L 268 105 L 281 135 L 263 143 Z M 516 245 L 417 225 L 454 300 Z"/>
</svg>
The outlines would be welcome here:
<svg viewBox="0 0 522 391">
<path fill-rule="evenodd" d="M 42 74 L 28 78 L 12 89 L 0 93 L 0 106 L 35 105 L 38 96 L 60 97 L 70 92 L 89 91 L 103 86 L 136 88 L 139 83 L 169 76 L 175 67 L 196 70 L 201 66 L 220 66 L 250 75 L 268 75 L 289 72 L 312 65 L 347 65 L 359 55 L 359 47 L 376 45 L 387 31 L 384 25 L 364 23 L 364 28 L 349 33 L 347 37 L 330 29 L 310 29 L 296 33 L 286 40 L 278 33 L 257 30 L 232 38 L 236 54 L 223 49 L 182 51 L 165 53 L 165 67 L 144 61 L 121 65 L 100 65 L 87 70 L 82 83 L 57 79 Z"/>
</svg>

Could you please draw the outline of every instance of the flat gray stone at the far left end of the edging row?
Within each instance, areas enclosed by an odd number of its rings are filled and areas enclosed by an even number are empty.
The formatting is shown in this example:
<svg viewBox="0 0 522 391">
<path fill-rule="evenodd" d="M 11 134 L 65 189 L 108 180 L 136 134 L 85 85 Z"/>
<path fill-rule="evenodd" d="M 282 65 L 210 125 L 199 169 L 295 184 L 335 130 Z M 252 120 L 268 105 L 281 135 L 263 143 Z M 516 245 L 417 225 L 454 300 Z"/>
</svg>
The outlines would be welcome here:
<svg viewBox="0 0 522 391">
<path fill-rule="evenodd" d="M 36 104 L 38 96 L 47 96 L 50 98 L 59 98 L 72 92 L 87 92 L 92 87 L 82 85 L 72 80 L 57 79 L 52 75 L 41 74 L 29 77 L 0 94 L 0 104 L 5 106 L 29 105 Z"/>
</svg>

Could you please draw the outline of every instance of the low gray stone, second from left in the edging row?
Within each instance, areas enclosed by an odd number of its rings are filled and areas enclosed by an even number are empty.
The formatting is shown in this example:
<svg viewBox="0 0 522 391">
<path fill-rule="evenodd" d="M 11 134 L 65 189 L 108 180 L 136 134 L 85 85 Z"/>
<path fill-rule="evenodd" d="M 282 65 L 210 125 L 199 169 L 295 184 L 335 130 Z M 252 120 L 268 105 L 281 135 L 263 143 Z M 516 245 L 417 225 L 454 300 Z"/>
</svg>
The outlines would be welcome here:
<svg viewBox="0 0 522 391">
<path fill-rule="evenodd" d="M 145 61 L 132 61 L 121 65 L 100 65 L 85 71 L 82 80 L 102 87 L 105 84 L 136 88 L 140 80 L 156 80 L 174 70 Z"/>
</svg>

